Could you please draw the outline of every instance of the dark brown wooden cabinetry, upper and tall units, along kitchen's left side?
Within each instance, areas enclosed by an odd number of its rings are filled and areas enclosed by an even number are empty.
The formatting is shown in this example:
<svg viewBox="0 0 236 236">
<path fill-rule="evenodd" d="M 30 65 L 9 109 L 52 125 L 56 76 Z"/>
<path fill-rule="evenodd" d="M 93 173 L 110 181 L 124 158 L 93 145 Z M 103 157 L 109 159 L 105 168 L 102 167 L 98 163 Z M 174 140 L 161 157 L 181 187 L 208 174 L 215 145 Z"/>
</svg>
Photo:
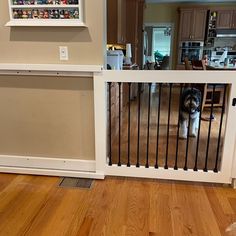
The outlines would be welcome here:
<svg viewBox="0 0 236 236">
<path fill-rule="evenodd" d="M 142 66 L 144 0 L 107 0 L 107 44 L 131 44 L 133 64 Z"/>
</svg>

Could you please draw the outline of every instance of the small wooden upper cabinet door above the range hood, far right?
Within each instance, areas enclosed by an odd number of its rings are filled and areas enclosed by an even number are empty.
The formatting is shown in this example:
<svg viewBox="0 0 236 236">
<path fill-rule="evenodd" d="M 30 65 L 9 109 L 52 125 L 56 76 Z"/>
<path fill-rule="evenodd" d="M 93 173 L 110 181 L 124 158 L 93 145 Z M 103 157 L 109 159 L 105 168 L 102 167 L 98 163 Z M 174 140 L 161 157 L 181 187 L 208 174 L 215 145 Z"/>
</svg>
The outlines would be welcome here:
<svg viewBox="0 0 236 236">
<path fill-rule="evenodd" d="M 233 17 L 232 10 L 219 10 L 217 12 L 217 29 L 229 29 L 231 28 L 231 22 Z"/>
</svg>

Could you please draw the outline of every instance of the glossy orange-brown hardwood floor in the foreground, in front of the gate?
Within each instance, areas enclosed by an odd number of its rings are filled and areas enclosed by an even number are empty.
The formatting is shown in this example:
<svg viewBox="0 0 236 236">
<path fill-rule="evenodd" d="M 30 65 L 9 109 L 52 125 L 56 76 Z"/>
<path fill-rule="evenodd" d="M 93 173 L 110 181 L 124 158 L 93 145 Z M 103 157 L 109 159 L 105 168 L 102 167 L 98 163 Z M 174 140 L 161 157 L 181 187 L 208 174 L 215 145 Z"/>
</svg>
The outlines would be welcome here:
<svg viewBox="0 0 236 236">
<path fill-rule="evenodd" d="M 0 174 L 1 236 L 220 236 L 236 222 L 230 187 L 106 178 L 91 189 L 57 177 Z"/>
</svg>

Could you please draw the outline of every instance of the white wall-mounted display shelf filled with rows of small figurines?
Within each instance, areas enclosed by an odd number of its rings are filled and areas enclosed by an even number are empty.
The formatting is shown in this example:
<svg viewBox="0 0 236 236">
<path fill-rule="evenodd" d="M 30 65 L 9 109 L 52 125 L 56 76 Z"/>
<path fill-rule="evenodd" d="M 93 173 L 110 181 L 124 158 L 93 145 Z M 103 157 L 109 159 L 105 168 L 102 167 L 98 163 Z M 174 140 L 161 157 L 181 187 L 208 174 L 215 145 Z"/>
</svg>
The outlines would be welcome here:
<svg viewBox="0 0 236 236">
<path fill-rule="evenodd" d="M 83 0 L 8 0 L 6 26 L 85 26 Z"/>
</svg>

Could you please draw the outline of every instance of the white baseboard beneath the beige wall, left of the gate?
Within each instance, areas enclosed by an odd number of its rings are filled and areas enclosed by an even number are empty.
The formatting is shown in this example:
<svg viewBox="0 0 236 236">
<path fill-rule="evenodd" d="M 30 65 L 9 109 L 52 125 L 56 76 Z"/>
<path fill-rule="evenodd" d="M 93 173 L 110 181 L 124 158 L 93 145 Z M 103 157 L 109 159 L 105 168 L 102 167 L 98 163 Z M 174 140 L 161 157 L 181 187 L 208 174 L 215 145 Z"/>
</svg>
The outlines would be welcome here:
<svg viewBox="0 0 236 236">
<path fill-rule="evenodd" d="M 94 160 L 0 155 L 0 172 L 103 179 Z"/>
</svg>

